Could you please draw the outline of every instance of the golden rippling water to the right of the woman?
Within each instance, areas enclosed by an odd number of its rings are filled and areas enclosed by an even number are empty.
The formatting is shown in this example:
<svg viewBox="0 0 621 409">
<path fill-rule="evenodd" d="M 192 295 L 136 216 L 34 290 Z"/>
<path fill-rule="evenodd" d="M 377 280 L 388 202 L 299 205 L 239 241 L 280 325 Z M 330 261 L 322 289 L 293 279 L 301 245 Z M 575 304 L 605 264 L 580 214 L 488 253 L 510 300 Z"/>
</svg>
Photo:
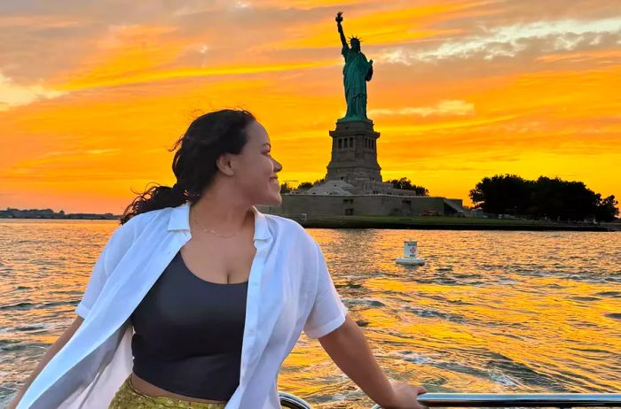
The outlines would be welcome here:
<svg viewBox="0 0 621 409">
<path fill-rule="evenodd" d="M 310 230 L 350 315 L 392 379 L 429 391 L 615 392 L 621 388 L 621 235 Z M 426 266 L 400 266 L 403 241 Z M 615 315 L 617 313 L 617 315 Z M 325 352 L 303 336 L 308 362 Z M 314 346 L 314 347 L 313 347 Z M 318 359 L 317 357 L 320 357 Z M 370 407 L 334 364 L 285 360 L 283 390 Z M 306 390 L 319 378 L 341 388 Z M 313 385 L 314 386 L 314 385 Z"/>
</svg>

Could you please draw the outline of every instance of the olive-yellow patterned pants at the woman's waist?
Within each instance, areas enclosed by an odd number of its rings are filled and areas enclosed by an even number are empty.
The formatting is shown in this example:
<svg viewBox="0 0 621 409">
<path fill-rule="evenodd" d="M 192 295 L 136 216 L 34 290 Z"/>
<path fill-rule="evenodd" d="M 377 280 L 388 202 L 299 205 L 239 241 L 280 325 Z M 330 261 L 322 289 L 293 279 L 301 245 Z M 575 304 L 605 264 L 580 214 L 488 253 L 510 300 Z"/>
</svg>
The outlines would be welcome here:
<svg viewBox="0 0 621 409">
<path fill-rule="evenodd" d="M 151 397 L 134 389 L 130 375 L 114 395 L 108 409 L 224 409 L 225 405 L 192 402 L 177 397 Z"/>
</svg>

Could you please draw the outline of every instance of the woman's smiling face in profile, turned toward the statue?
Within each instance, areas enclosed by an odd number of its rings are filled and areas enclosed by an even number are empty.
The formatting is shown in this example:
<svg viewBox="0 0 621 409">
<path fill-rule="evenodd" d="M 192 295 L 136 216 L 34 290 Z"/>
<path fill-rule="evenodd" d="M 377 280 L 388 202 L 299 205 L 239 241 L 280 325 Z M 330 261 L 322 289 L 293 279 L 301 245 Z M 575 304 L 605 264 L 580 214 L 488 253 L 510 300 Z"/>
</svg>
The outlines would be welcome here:
<svg viewBox="0 0 621 409">
<path fill-rule="evenodd" d="M 251 203 L 279 205 L 282 197 L 279 181 L 275 177 L 282 166 L 271 157 L 270 136 L 256 121 L 246 127 L 246 133 L 248 143 L 237 157 L 235 180 Z"/>
</svg>

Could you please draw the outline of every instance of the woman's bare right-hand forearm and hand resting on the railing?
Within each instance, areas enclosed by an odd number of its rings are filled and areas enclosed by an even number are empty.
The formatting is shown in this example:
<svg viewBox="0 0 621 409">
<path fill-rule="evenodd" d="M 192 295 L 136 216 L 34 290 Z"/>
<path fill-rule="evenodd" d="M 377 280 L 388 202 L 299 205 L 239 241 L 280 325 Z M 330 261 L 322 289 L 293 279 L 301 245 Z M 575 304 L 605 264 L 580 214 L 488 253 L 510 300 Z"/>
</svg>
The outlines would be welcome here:
<svg viewBox="0 0 621 409">
<path fill-rule="evenodd" d="M 341 327 L 319 338 L 319 343 L 337 367 L 386 409 L 422 409 L 416 397 L 427 392 L 423 387 L 390 382 L 381 371 L 355 320 L 348 315 Z"/>
</svg>

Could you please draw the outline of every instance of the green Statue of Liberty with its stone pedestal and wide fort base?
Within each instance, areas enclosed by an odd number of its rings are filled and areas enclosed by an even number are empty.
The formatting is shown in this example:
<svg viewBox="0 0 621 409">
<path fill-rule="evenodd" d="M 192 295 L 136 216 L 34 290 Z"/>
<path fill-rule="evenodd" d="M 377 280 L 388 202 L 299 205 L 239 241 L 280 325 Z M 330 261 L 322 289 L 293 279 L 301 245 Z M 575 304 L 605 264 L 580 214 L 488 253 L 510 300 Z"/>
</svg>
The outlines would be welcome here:
<svg viewBox="0 0 621 409">
<path fill-rule="evenodd" d="M 419 216 L 464 213 L 461 199 L 419 196 L 413 190 L 395 189 L 382 181 L 377 159 L 380 133 L 366 116 L 366 82 L 373 78 L 373 59 L 366 60 L 358 37 L 347 43 L 342 12 L 336 15 L 342 43 L 343 87 L 347 113 L 336 120 L 328 135 L 332 154 L 324 181 L 308 190 L 283 193 L 279 206 L 257 206 L 281 215 L 382 215 Z"/>
</svg>

